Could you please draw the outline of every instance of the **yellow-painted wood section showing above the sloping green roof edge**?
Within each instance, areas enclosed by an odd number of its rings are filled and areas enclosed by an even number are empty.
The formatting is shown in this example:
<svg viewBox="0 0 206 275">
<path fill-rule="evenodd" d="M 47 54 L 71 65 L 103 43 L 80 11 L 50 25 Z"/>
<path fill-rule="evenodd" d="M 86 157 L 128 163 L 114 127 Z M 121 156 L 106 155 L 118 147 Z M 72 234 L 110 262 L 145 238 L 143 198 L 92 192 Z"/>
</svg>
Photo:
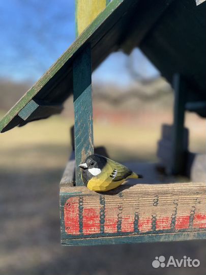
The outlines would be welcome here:
<svg viewBox="0 0 206 275">
<path fill-rule="evenodd" d="M 106 0 L 76 0 L 76 36 L 78 37 L 89 24 L 106 8 Z"/>
</svg>

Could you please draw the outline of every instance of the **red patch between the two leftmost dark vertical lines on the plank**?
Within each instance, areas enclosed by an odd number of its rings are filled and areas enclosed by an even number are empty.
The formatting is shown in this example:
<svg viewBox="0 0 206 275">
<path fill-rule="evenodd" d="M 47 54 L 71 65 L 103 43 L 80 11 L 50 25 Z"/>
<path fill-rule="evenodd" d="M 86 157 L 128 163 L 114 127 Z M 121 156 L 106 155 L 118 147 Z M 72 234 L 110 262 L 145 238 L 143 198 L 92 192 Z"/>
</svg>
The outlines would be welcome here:
<svg viewBox="0 0 206 275">
<path fill-rule="evenodd" d="M 83 234 L 100 233 L 100 209 L 83 208 Z"/>
</svg>

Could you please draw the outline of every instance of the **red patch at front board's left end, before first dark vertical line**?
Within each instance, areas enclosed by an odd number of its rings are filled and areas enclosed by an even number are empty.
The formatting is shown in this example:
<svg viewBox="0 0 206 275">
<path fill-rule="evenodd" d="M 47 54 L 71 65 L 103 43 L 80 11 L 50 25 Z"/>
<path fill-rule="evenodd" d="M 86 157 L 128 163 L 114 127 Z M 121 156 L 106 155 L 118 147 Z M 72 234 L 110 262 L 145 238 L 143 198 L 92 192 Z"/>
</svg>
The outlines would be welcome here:
<svg viewBox="0 0 206 275">
<path fill-rule="evenodd" d="M 70 198 L 64 206 L 65 232 L 79 235 L 79 198 Z"/>
</svg>

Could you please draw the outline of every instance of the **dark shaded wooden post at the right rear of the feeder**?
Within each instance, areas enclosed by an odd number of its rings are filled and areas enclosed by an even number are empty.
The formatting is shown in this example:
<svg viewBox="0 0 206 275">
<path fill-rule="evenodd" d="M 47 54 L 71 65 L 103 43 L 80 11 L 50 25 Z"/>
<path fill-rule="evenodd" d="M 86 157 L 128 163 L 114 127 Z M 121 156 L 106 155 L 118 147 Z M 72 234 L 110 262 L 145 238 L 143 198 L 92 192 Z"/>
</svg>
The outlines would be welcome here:
<svg viewBox="0 0 206 275">
<path fill-rule="evenodd" d="M 186 85 L 180 74 L 174 74 L 174 115 L 172 130 L 172 162 L 171 173 L 180 174 L 184 171 L 184 122 Z"/>
</svg>

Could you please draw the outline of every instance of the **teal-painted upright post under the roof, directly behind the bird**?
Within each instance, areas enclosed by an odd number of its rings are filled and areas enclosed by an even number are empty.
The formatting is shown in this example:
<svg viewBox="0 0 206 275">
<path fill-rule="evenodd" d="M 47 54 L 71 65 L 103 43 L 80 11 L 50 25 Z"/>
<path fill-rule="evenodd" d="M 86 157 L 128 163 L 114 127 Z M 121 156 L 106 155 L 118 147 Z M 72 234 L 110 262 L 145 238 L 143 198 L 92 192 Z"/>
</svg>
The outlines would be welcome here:
<svg viewBox="0 0 206 275">
<path fill-rule="evenodd" d="M 83 185 L 78 165 L 94 153 L 91 46 L 87 45 L 73 63 L 74 139 L 76 186 Z"/>
</svg>

